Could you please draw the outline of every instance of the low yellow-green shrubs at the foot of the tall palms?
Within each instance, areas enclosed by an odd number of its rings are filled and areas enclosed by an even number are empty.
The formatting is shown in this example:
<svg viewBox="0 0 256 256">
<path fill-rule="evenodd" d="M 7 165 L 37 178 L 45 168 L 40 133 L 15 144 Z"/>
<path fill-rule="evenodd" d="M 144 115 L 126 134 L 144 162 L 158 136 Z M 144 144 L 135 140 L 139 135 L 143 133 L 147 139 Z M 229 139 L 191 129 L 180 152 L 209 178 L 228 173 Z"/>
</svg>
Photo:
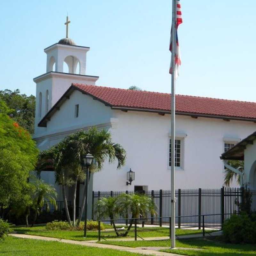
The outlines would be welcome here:
<svg viewBox="0 0 256 256">
<path fill-rule="evenodd" d="M 46 224 L 48 230 L 84 230 L 84 221 L 81 221 L 79 226 L 72 227 L 67 221 L 54 220 Z M 87 220 L 87 230 L 98 230 L 98 221 Z M 104 229 L 104 224 L 100 223 L 100 230 Z"/>
</svg>

